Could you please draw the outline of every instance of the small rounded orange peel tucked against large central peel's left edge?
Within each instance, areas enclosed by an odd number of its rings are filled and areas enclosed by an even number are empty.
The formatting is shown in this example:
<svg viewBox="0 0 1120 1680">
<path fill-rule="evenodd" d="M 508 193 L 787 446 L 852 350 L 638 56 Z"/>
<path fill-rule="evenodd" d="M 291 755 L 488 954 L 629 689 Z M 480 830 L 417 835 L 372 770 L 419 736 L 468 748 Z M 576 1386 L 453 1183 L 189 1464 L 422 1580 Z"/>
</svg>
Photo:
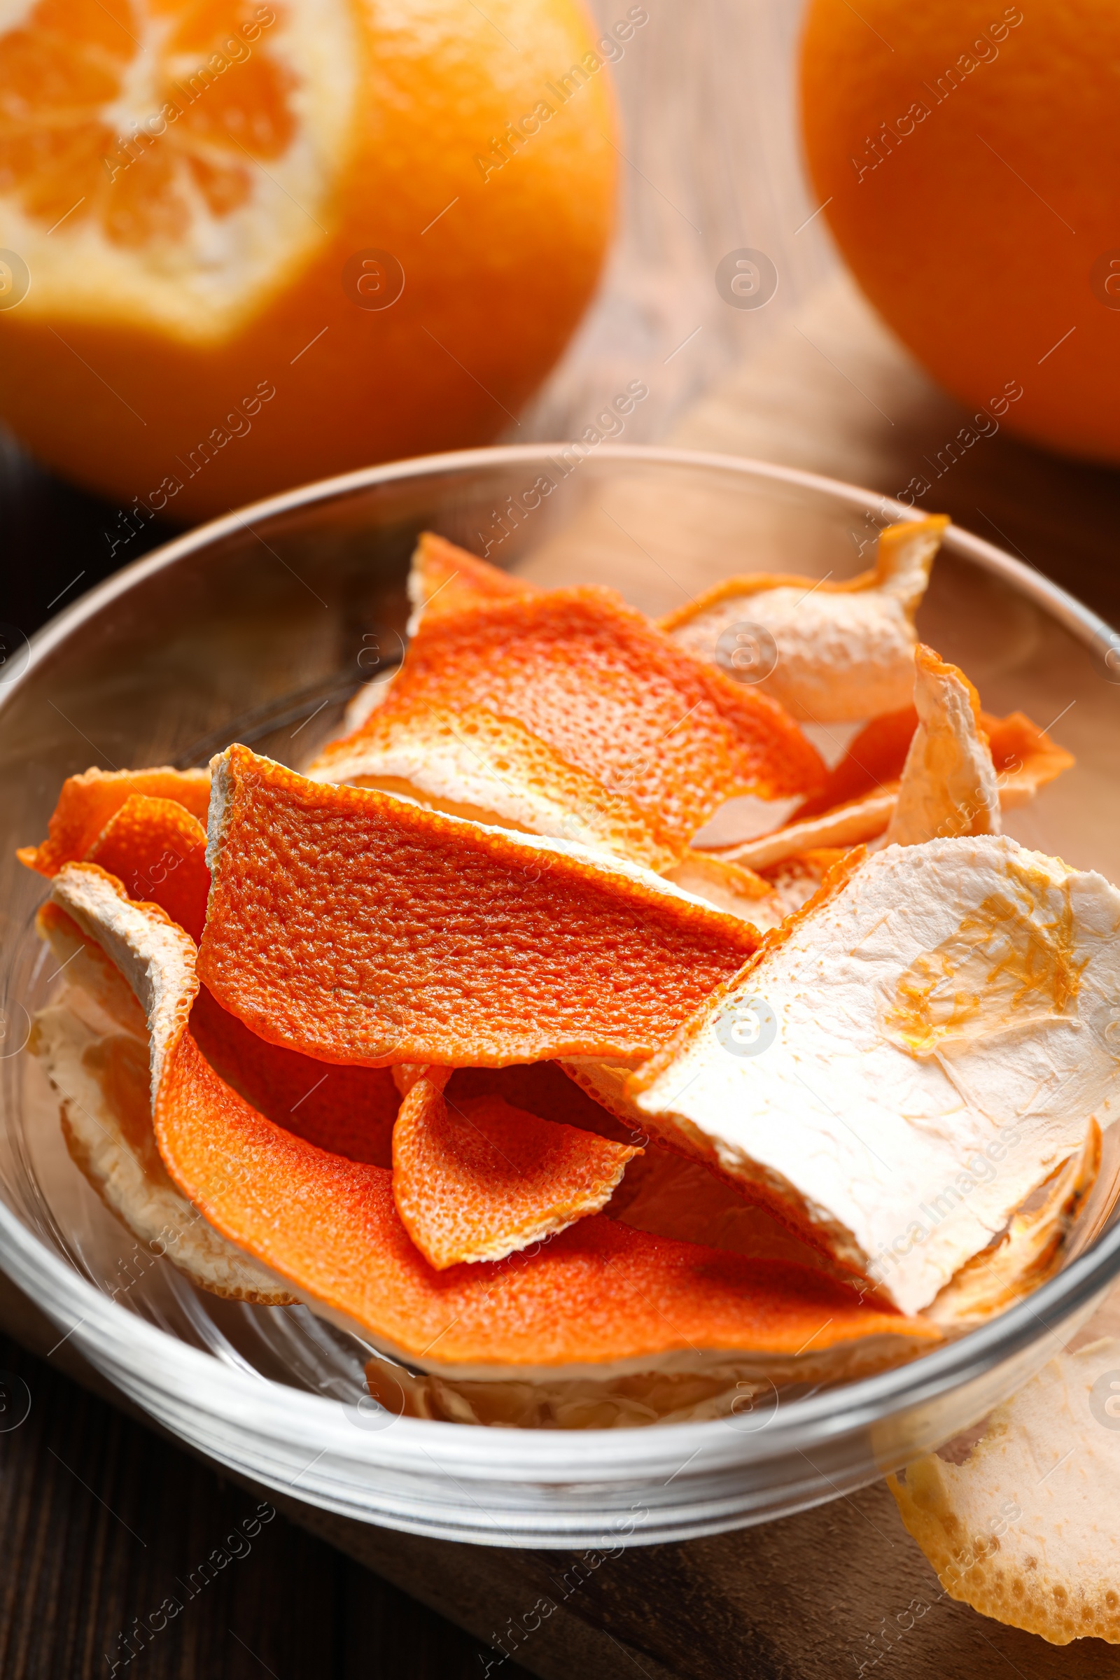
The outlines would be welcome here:
<svg viewBox="0 0 1120 1680">
<path fill-rule="evenodd" d="M 207 921 L 207 830 L 175 800 L 133 793 L 86 853 L 123 882 L 129 899 L 160 904 L 195 944 Z"/>
</svg>

